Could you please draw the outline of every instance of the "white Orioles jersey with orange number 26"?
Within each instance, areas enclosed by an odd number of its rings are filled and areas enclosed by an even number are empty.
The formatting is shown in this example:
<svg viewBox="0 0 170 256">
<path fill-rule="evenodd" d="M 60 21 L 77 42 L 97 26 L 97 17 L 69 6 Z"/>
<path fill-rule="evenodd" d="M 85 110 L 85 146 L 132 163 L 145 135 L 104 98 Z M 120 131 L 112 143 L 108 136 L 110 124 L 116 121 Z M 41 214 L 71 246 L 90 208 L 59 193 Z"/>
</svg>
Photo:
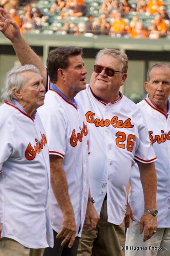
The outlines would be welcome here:
<svg viewBox="0 0 170 256">
<path fill-rule="evenodd" d="M 140 109 L 121 95 L 113 103 L 96 99 L 89 84 L 75 97 L 86 114 L 91 139 L 89 186 L 100 213 L 107 192 L 108 221 L 121 224 L 126 210 L 126 186 L 134 159 L 155 161 Z"/>
</svg>

